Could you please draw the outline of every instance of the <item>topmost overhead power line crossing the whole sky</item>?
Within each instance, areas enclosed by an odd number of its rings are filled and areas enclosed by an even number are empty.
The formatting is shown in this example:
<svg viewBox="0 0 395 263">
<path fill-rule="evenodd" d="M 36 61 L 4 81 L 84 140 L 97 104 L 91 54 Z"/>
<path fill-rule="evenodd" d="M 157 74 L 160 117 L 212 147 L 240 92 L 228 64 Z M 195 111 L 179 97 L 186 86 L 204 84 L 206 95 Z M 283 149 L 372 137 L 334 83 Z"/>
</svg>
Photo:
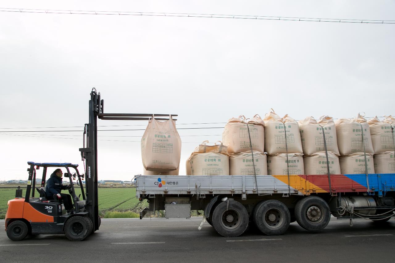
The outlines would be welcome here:
<svg viewBox="0 0 395 263">
<path fill-rule="evenodd" d="M 333 23 L 395 24 L 395 20 L 278 17 L 278 16 L 263 16 L 263 15 L 220 15 L 220 14 L 201 14 L 201 13 L 157 13 L 157 12 L 129 12 L 129 11 L 28 9 L 28 8 L 0 8 L 0 11 L 19 12 L 19 13 L 72 14 L 72 15 L 74 14 L 75 15 L 134 15 L 134 16 L 155 16 L 155 17 L 200 17 L 200 18 L 283 20 L 283 21 L 333 22 Z"/>
</svg>

